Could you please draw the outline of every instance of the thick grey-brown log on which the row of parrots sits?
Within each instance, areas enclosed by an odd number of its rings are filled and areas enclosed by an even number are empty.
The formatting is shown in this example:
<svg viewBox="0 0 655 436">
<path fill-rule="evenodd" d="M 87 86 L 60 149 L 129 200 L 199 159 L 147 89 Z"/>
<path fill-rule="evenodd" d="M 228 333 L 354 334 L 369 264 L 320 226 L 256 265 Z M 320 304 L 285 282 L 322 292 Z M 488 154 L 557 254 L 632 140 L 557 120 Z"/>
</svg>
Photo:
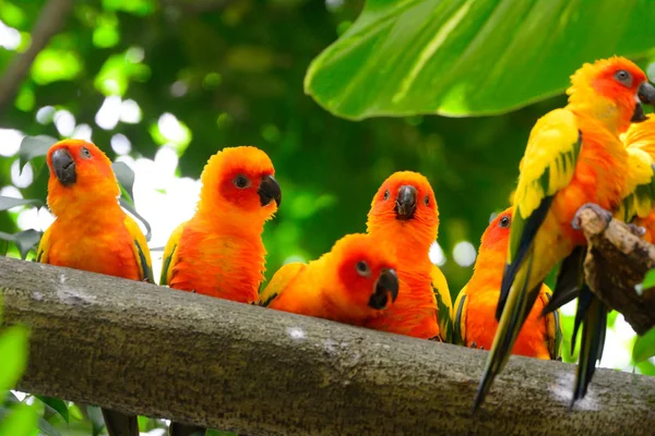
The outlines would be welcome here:
<svg viewBox="0 0 655 436">
<path fill-rule="evenodd" d="M 471 415 L 486 351 L 0 258 L 7 323 L 32 327 L 20 389 L 258 434 L 651 435 L 655 378 L 511 358 Z"/>
</svg>

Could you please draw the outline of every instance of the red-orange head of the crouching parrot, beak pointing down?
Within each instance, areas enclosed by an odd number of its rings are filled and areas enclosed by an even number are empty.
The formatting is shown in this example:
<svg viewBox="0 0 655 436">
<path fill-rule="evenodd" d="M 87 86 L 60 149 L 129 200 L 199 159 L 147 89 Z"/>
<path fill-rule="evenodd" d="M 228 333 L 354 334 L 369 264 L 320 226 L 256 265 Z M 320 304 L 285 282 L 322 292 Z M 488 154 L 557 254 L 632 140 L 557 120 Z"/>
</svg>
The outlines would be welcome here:
<svg viewBox="0 0 655 436">
<path fill-rule="evenodd" d="M 338 240 L 331 251 L 337 277 L 349 307 L 388 308 L 398 296 L 398 279 L 388 251 L 369 234 L 354 233 Z"/>
</svg>

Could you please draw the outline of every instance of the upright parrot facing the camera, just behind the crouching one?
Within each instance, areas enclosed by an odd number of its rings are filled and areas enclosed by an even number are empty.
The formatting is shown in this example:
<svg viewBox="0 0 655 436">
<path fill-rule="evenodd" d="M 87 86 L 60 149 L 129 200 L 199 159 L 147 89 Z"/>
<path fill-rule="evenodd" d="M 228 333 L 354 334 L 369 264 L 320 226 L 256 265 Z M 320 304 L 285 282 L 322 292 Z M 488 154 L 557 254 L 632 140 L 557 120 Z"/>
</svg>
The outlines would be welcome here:
<svg viewBox="0 0 655 436">
<path fill-rule="evenodd" d="M 450 291 L 443 274 L 428 257 L 439 229 L 439 210 L 428 179 L 412 171 L 390 175 L 373 197 L 367 228 L 396 257 L 401 289 L 393 306 L 365 326 L 450 341 Z"/>
</svg>

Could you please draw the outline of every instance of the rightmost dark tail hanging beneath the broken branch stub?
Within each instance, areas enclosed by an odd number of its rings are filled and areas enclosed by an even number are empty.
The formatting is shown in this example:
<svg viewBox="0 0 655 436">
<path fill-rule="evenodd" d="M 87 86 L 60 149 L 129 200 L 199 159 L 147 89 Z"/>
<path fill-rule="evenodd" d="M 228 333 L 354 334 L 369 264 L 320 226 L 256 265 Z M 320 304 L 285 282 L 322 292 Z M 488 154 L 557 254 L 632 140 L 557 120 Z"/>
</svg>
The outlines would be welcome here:
<svg viewBox="0 0 655 436">
<path fill-rule="evenodd" d="M 575 372 L 571 408 L 575 401 L 583 399 L 586 395 L 587 387 L 596 372 L 596 362 L 600 361 L 603 356 L 605 331 L 607 329 L 607 307 L 588 289 L 585 292 L 588 292 L 591 298 L 588 298 L 590 303 L 587 304 L 582 326 L 582 343 L 580 347 L 577 370 Z"/>
</svg>

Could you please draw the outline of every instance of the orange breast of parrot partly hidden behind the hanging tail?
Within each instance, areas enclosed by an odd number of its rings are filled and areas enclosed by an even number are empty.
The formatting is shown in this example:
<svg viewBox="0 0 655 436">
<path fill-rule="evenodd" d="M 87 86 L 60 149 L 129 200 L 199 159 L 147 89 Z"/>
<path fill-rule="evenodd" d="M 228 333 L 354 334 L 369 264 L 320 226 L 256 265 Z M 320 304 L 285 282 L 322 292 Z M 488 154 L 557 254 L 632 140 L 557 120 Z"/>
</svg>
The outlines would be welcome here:
<svg viewBox="0 0 655 436">
<path fill-rule="evenodd" d="M 472 286 L 473 284 L 473 286 Z M 498 328 L 496 320 L 496 306 L 500 291 L 498 287 L 491 290 L 475 289 L 475 283 L 469 283 L 469 294 L 466 312 L 466 346 L 491 350 L 493 336 Z M 543 292 L 543 290 L 541 290 Z M 512 354 L 528 358 L 550 359 L 548 351 L 548 335 L 546 317 L 540 317 L 544 308 L 541 299 L 537 299 L 512 349 Z"/>
</svg>

